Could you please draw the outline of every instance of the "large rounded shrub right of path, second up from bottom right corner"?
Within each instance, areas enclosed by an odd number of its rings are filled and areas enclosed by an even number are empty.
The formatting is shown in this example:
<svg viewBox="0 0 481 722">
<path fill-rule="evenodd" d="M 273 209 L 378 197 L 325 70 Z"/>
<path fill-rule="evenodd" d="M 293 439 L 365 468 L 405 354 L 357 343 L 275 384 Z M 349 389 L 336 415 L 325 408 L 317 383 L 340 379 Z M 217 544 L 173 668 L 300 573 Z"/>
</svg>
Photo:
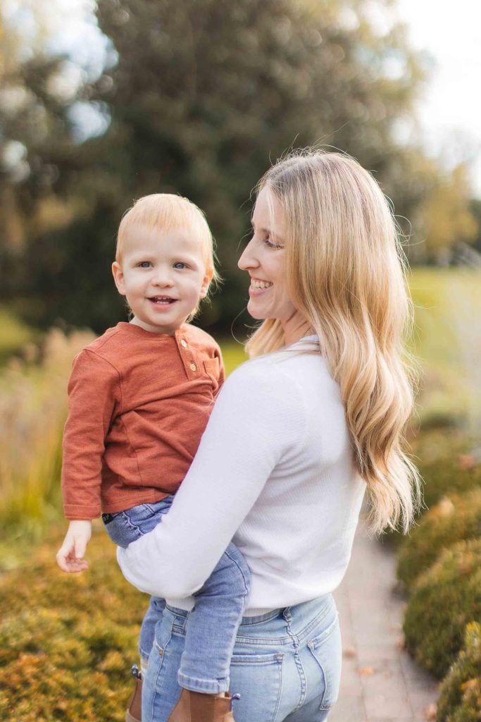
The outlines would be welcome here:
<svg viewBox="0 0 481 722">
<path fill-rule="evenodd" d="M 444 677 L 462 648 L 464 629 L 481 619 L 481 539 L 462 541 L 420 576 L 407 604 L 407 649 Z"/>
</svg>

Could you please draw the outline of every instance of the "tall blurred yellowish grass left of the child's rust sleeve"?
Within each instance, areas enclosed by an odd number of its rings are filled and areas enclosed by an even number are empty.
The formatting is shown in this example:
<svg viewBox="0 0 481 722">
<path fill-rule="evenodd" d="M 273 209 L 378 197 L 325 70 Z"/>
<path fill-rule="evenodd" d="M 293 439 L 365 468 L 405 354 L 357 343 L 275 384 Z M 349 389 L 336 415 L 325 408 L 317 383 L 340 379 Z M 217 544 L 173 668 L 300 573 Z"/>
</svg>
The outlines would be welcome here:
<svg viewBox="0 0 481 722">
<path fill-rule="evenodd" d="M 0 375 L 0 528 L 37 536 L 58 517 L 66 384 L 74 355 L 93 338 L 53 330 L 40 360 L 13 358 Z M 4 549 L 0 549 L 4 556 Z"/>
</svg>

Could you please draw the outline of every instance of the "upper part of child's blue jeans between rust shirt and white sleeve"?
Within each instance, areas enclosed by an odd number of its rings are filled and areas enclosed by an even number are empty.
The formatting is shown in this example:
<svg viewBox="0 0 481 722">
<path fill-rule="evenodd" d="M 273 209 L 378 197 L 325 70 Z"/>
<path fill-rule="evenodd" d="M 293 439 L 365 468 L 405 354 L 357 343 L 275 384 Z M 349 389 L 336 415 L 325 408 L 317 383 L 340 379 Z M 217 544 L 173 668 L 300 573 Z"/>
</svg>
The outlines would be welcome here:
<svg viewBox="0 0 481 722">
<path fill-rule="evenodd" d="M 102 514 L 102 521 L 110 539 L 118 547 L 128 547 L 132 541 L 148 534 L 167 514 L 174 496 L 170 495 L 152 504 L 139 504 L 115 514 Z"/>
</svg>

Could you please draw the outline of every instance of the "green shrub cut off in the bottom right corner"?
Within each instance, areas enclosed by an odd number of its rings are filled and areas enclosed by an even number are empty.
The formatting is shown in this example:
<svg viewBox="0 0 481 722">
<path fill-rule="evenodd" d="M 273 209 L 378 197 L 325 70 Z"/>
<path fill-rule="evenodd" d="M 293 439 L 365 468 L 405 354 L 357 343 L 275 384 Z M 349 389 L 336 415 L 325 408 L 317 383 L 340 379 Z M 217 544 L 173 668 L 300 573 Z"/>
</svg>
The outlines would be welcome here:
<svg viewBox="0 0 481 722">
<path fill-rule="evenodd" d="M 481 719 L 481 625 L 467 625 L 464 648 L 441 683 L 436 722 Z"/>
</svg>

